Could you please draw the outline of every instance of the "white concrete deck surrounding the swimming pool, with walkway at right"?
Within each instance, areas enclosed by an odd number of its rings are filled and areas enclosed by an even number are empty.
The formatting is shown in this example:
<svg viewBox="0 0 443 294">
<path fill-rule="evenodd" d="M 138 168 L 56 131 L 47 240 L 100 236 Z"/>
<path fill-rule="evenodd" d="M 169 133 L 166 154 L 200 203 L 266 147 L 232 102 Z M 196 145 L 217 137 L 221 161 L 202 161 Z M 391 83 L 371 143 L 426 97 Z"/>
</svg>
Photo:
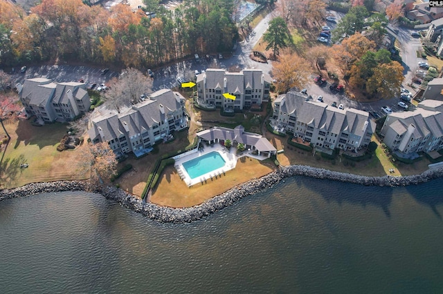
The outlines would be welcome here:
<svg viewBox="0 0 443 294">
<path fill-rule="evenodd" d="M 217 151 L 224 159 L 225 161 L 224 166 L 212 170 L 210 173 L 201 175 L 200 177 L 196 177 L 195 179 L 191 179 L 191 177 L 186 172 L 186 169 L 183 167 L 183 163 L 191 159 L 200 157 L 201 155 L 211 153 L 213 151 Z M 224 173 L 226 173 L 228 170 L 233 170 L 237 165 L 237 159 L 244 156 L 253 157 L 258 160 L 263 160 L 267 158 L 266 156 L 252 155 L 251 152 L 248 150 L 237 154 L 236 148 L 230 148 L 230 150 L 228 150 L 226 147 L 221 146 L 220 144 L 213 144 L 212 146 L 204 146 L 203 150 L 194 149 L 187 153 L 177 155 L 173 158 L 175 160 L 174 166 L 175 169 L 177 170 L 177 173 L 179 173 L 179 176 L 181 177 L 181 179 L 183 179 L 183 182 L 185 182 L 186 185 L 188 185 L 189 187 L 195 184 L 205 183 L 209 179 L 217 179 L 218 177 L 221 177 L 221 175 L 224 175 Z"/>
</svg>

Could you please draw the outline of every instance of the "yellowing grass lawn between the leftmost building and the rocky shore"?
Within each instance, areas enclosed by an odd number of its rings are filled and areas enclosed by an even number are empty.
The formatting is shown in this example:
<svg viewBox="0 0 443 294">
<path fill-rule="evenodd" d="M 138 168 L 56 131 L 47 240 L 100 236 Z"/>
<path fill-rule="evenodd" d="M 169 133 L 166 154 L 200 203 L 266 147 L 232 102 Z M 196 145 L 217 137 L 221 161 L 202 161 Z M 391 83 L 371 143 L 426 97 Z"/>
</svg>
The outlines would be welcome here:
<svg viewBox="0 0 443 294">
<path fill-rule="evenodd" d="M 50 182 L 62 179 L 84 179 L 77 162 L 83 146 L 75 150 L 57 151 L 60 139 L 66 134 L 63 124 L 37 127 L 28 120 L 5 121 L 10 143 L 6 153 L 0 154 L 0 182 L 4 188 L 13 188 L 32 182 Z M 28 168 L 21 168 L 28 164 Z M 87 176 L 86 176 L 87 177 Z"/>
</svg>

